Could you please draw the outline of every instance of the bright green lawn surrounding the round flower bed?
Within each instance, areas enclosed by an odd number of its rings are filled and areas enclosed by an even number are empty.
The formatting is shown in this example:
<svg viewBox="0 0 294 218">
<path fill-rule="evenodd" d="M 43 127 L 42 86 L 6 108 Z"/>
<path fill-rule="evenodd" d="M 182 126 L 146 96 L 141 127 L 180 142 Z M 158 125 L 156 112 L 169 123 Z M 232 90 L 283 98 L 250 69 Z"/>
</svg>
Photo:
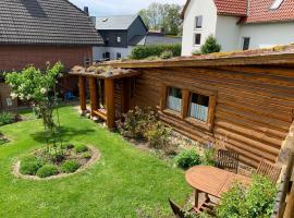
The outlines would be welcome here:
<svg viewBox="0 0 294 218">
<path fill-rule="evenodd" d="M 0 146 L 0 217 L 170 217 L 168 198 L 183 204 L 192 192 L 183 171 L 79 118 L 72 107 L 62 107 L 60 118 L 64 141 L 96 146 L 100 160 L 69 178 L 17 179 L 13 162 L 45 145 L 41 120 L 0 128 L 11 138 Z"/>
</svg>

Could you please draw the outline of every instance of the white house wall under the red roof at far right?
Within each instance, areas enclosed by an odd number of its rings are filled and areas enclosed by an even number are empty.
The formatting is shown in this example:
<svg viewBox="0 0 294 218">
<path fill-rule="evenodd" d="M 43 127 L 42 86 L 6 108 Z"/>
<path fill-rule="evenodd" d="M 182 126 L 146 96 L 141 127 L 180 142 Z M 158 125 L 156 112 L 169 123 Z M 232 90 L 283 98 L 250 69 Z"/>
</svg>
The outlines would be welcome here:
<svg viewBox="0 0 294 218">
<path fill-rule="evenodd" d="M 294 43 L 294 23 L 246 24 L 241 26 L 238 49 L 243 37 L 250 37 L 249 49 Z"/>
</svg>

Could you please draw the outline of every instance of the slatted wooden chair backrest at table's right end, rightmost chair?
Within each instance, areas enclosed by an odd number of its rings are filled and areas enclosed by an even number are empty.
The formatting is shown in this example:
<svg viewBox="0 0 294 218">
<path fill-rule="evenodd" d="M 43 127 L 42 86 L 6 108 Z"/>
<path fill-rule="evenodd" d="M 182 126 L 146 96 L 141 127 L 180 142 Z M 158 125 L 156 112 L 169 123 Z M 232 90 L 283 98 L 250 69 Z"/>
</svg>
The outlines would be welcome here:
<svg viewBox="0 0 294 218">
<path fill-rule="evenodd" d="M 269 178 L 273 183 L 277 183 L 281 174 L 281 170 L 282 170 L 281 167 L 274 166 L 271 162 L 262 159 L 260 160 L 256 172 L 257 174 L 261 174 Z"/>
</svg>

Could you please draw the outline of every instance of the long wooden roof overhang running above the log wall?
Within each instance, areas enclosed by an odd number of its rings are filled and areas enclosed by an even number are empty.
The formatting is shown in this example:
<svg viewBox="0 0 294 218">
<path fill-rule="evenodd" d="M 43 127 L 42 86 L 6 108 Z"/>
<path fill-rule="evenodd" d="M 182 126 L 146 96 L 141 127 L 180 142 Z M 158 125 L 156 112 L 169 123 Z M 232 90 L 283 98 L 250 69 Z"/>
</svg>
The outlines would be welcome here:
<svg viewBox="0 0 294 218">
<path fill-rule="evenodd" d="M 260 51 L 260 50 L 257 50 Z M 250 52 L 256 52 L 250 51 Z M 111 66 L 119 69 L 147 68 L 213 68 L 229 65 L 291 65 L 294 66 L 294 46 L 282 51 L 264 50 L 254 55 L 246 52 L 212 53 L 196 57 L 180 57 L 168 60 L 131 60 L 97 63 L 96 66 Z"/>
</svg>

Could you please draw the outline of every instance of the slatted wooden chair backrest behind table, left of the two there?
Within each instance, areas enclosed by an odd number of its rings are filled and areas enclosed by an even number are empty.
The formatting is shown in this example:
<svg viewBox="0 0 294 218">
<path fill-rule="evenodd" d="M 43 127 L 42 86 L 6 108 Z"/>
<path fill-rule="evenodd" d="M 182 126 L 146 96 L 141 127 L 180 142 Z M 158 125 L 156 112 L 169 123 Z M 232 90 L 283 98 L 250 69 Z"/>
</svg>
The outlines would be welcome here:
<svg viewBox="0 0 294 218">
<path fill-rule="evenodd" d="M 217 167 L 237 173 L 238 154 L 231 150 L 219 149 Z"/>
</svg>

